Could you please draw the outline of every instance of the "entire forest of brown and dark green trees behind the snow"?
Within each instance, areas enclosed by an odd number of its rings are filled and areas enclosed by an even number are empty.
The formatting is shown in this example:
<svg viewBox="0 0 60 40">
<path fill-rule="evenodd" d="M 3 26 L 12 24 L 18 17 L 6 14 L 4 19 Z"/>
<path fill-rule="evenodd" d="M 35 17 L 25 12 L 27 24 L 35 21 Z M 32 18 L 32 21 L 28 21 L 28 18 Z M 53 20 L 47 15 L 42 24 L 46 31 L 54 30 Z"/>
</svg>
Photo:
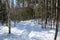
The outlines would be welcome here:
<svg viewBox="0 0 60 40">
<path fill-rule="evenodd" d="M 47 28 L 48 22 L 50 29 L 53 29 L 52 23 L 55 26 L 55 37 L 57 39 L 58 28 L 60 27 L 60 0 L 0 0 L 0 22 L 9 28 L 11 34 L 11 21 L 14 25 L 18 21 L 38 20 L 38 24 L 42 28 Z M 44 22 L 44 23 L 43 23 Z"/>
</svg>

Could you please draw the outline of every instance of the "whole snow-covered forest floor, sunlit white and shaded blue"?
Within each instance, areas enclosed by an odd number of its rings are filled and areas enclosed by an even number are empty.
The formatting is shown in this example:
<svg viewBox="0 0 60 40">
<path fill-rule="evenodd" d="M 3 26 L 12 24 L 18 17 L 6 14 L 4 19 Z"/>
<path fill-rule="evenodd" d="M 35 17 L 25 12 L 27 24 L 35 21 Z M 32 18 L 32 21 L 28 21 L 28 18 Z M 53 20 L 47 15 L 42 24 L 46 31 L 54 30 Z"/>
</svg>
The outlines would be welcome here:
<svg viewBox="0 0 60 40">
<path fill-rule="evenodd" d="M 7 26 L 0 26 L 0 40 L 53 40 L 55 30 L 42 29 L 41 25 L 35 23 L 33 20 L 20 21 L 16 23 L 11 22 L 11 34 L 8 34 Z M 60 32 L 57 40 L 60 40 Z"/>
</svg>

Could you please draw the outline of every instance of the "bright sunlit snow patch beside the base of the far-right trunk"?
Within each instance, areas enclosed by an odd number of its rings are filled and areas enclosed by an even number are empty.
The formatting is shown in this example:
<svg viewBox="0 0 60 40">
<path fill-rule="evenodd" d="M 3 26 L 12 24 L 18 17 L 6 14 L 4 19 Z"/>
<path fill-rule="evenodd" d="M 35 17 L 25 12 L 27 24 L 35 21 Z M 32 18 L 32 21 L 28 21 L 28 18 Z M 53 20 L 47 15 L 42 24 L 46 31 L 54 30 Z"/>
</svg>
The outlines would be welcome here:
<svg viewBox="0 0 60 40">
<path fill-rule="evenodd" d="M 30 39 L 32 38 L 39 38 L 41 40 L 53 40 L 54 38 L 54 33 L 49 33 L 47 31 L 43 31 L 43 32 L 34 32 L 32 31 L 30 34 L 29 34 L 29 37 Z"/>
</svg>

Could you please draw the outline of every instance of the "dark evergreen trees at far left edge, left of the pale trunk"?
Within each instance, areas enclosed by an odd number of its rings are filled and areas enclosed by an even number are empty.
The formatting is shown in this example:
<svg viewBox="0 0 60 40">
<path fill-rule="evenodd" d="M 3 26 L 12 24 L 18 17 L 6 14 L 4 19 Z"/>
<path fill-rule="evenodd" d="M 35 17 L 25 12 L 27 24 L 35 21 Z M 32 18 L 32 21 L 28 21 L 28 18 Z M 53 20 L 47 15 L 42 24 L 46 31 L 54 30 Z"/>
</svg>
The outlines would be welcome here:
<svg viewBox="0 0 60 40">
<path fill-rule="evenodd" d="M 0 0 L 0 22 L 6 23 L 7 21 L 7 12 L 6 12 L 6 5 L 5 3 L 2 3 L 2 1 Z"/>
</svg>

